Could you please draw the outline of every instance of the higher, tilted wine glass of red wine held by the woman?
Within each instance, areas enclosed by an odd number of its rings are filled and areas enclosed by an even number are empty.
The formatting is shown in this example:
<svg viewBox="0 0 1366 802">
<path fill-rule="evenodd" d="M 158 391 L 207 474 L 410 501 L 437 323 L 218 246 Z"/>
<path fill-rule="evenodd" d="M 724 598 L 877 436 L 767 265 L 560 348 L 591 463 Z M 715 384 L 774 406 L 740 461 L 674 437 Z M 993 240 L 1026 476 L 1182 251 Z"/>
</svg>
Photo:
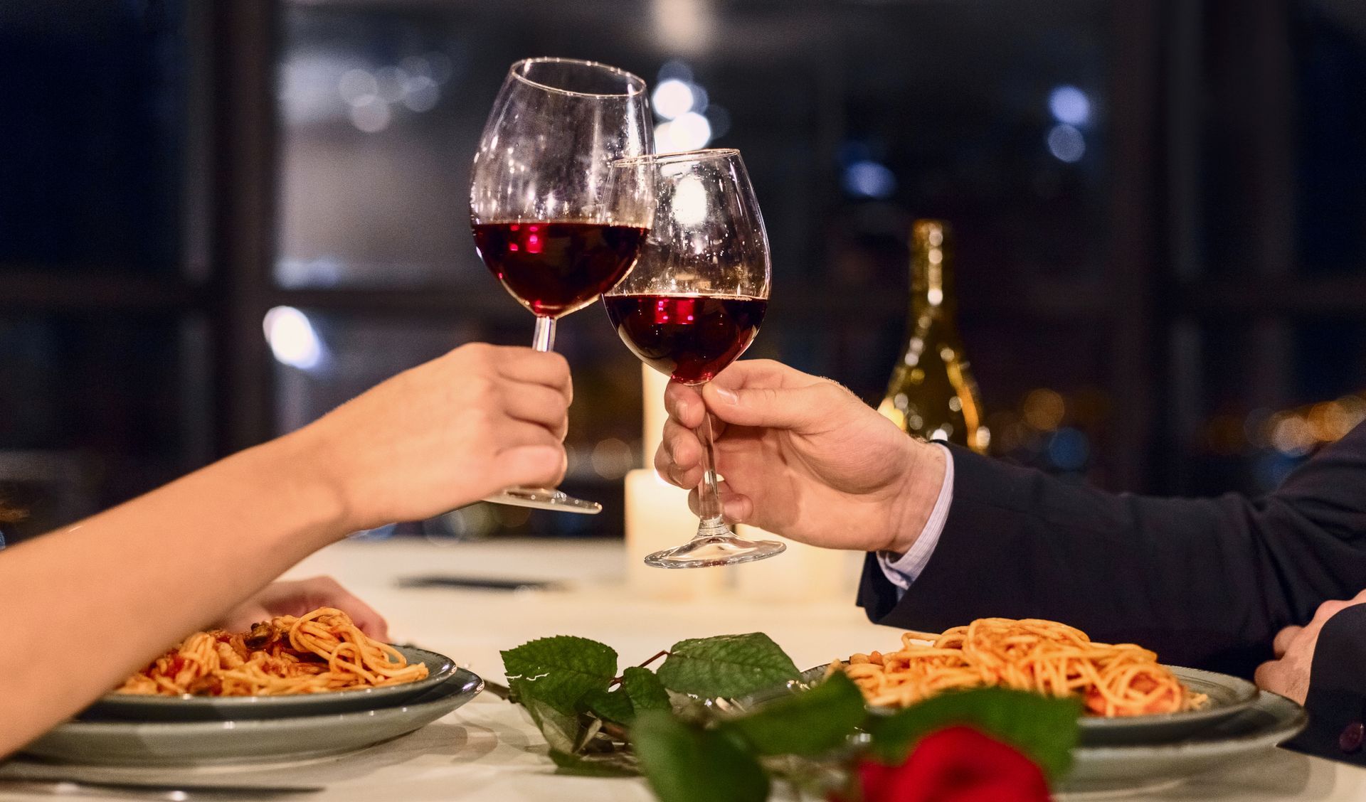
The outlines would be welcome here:
<svg viewBox="0 0 1366 802">
<path fill-rule="evenodd" d="M 535 315 L 537 351 L 555 346 L 557 318 L 593 303 L 635 263 L 653 185 L 613 161 L 650 151 L 649 102 L 635 75 L 570 59 L 508 70 L 474 155 L 470 224 L 485 265 Z M 545 487 L 485 501 L 602 510 Z"/>
</svg>

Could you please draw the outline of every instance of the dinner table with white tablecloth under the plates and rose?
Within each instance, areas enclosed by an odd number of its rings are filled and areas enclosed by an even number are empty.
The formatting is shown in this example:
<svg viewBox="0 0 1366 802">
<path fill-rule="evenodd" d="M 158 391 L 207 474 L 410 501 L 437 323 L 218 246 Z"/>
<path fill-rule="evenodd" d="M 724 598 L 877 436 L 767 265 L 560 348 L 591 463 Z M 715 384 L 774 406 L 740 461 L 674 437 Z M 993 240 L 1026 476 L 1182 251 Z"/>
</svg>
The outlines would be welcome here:
<svg viewBox="0 0 1366 802">
<path fill-rule="evenodd" d="M 858 555 L 848 555 L 852 566 Z M 352 539 L 302 561 L 288 577 L 337 578 L 382 612 L 395 641 L 449 655 L 492 682 L 505 682 L 500 649 L 575 634 L 639 663 L 673 642 L 723 633 L 764 632 L 799 667 L 895 647 L 897 632 L 870 623 L 852 600 L 854 571 L 836 592 L 806 592 L 784 556 L 755 566 L 698 569 L 699 591 L 650 592 L 628 584 L 622 540 L 425 537 Z M 795 565 L 795 562 L 792 563 Z M 678 582 L 660 571 L 660 585 Z M 695 573 L 695 571 L 688 571 Z M 753 574 L 758 576 L 758 574 Z M 717 581 L 720 578 L 721 581 Z M 679 588 L 683 588 L 679 591 Z M 193 768 L 78 767 L 23 757 L 0 765 L 0 799 L 280 798 L 329 801 L 647 801 L 642 779 L 557 773 L 546 742 L 526 712 L 485 692 L 426 727 L 359 752 L 306 761 Z M 31 780 L 31 782 L 30 782 Z M 53 782 L 64 780 L 64 782 Z M 209 794 L 179 788 L 220 787 Z M 311 788 L 272 795 L 261 788 Z M 255 788 L 255 791 L 253 791 Z M 776 787 L 775 798 L 791 798 Z M 1060 798 L 1160 801 L 1361 801 L 1366 769 L 1272 749 L 1184 782 Z"/>
</svg>

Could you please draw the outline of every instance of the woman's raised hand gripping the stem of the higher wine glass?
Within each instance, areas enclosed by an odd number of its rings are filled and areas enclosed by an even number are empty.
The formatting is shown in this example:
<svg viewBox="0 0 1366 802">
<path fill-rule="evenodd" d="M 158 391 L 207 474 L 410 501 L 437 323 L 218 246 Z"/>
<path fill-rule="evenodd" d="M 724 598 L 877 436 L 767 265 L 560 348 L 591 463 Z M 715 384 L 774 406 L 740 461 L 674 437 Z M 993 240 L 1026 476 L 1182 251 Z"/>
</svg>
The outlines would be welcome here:
<svg viewBox="0 0 1366 802">
<path fill-rule="evenodd" d="M 369 529 L 429 518 L 514 484 L 559 484 L 572 398 L 563 356 L 470 344 L 291 438 L 311 461 L 299 471 L 324 479 L 347 528 Z"/>
</svg>

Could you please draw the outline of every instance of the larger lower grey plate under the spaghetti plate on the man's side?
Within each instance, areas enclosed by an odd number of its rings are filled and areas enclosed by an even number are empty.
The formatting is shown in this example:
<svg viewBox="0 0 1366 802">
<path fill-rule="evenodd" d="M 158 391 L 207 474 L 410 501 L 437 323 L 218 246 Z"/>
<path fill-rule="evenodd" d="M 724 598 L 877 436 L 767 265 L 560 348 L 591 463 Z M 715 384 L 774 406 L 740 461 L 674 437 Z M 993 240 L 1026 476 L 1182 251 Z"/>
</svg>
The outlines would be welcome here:
<svg viewBox="0 0 1366 802">
<path fill-rule="evenodd" d="M 1079 746 L 1064 791 L 1111 791 L 1153 787 L 1225 768 L 1266 754 L 1305 728 L 1305 708 L 1261 692 L 1246 709 L 1171 743 Z"/>
</svg>

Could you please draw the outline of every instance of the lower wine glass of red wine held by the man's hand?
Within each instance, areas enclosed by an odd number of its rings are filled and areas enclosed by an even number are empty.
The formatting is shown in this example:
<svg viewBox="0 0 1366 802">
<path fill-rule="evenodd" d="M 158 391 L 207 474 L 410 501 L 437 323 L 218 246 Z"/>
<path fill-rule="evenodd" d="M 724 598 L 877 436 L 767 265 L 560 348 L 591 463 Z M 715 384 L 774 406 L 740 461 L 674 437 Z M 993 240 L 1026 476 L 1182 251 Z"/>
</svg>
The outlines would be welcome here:
<svg viewBox="0 0 1366 802">
<path fill-rule="evenodd" d="M 626 346 L 675 382 L 701 389 L 749 348 L 768 308 L 768 235 L 739 150 L 626 158 L 654 179 L 654 222 L 635 269 L 602 296 Z M 656 567 L 764 559 L 785 547 L 744 540 L 721 517 L 710 416 L 702 441 L 701 522 L 688 543 L 645 558 Z"/>
</svg>

